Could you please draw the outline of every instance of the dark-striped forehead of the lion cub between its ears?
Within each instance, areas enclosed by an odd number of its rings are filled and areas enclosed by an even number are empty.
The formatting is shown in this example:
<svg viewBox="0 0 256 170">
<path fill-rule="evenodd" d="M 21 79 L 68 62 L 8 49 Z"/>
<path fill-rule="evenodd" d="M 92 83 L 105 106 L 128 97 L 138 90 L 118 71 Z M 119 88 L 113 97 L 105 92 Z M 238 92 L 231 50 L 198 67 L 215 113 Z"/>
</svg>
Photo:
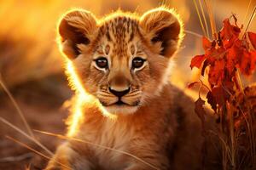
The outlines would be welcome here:
<svg viewBox="0 0 256 170">
<path fill-rule="evenodd" d="M 116 16 L 102 22 L 99 39 L 105 50 L 113 54 L 126 55 L 133 52 L 139 37 L 138 20 L 129 16 Z"/>
</svg>

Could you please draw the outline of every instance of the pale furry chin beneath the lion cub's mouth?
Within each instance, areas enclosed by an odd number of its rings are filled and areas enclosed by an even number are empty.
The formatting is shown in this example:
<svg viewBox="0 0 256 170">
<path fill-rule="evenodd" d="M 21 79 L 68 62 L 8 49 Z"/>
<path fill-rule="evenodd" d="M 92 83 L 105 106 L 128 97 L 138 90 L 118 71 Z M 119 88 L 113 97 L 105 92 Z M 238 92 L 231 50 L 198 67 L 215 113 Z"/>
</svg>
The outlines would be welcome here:
<svg viewBox="0 0 256 170">
<path fill-rule="evenodd" d="M 131 105 L 109 105 L 103 106 L 103 108 L 108 111 L 108 113 L 113 115 L 130 115 L 137 111 L 138 106 Z"/>
</svg>

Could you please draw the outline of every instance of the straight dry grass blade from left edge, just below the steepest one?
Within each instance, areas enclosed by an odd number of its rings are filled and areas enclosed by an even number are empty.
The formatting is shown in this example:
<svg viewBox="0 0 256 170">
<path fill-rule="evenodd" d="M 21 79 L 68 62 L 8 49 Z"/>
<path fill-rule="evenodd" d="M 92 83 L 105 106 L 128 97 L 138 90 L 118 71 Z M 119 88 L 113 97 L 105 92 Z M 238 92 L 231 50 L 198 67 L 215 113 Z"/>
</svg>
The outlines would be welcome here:
<svg viewBox="0 0 256 170">
<path fill-rule="evenodd" d="M 23 132 L 22 130 L 20 130 L 19 127 L 16 127 L 15 125 L 13 125 L 12 123 L 8 122 L 7 120 L 3 119 L 3 117 L 0 116 L 0 122 L 3 122 L 4 124 L 8 125 L 9 127 L 12 127 L 13 129 L 15 129 L 17 132 L 23 134 L 27 139 L 32 140 L 34 143 L 38 144 L 38 146 L 40 146 L 42 149 L 44 149 L 49 156 L 53 156 L 53 153 L 48 150 L 43 144 L 41 144 L 40 142 L 38 142 L 37 139 L 32 138 L 31 136 L 27 135 L 25 132 Z"/>
</svg>

